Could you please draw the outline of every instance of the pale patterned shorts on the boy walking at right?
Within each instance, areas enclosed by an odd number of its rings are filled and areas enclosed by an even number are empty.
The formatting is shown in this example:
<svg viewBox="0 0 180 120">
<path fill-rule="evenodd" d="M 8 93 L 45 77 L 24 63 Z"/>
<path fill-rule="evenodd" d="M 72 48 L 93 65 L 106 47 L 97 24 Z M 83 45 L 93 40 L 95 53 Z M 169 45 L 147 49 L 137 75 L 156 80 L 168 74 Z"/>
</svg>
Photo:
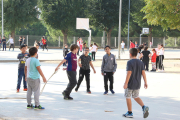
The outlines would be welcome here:
<svg viewBox="0 0 180 120">
<path fill-rule="evenodd" d="M 125 95 L 126 98 L 138 98 L 139 97 L 139 89 L 137 90 L 131 90 L 129 88 L 125 89 Z"/>
</svg>

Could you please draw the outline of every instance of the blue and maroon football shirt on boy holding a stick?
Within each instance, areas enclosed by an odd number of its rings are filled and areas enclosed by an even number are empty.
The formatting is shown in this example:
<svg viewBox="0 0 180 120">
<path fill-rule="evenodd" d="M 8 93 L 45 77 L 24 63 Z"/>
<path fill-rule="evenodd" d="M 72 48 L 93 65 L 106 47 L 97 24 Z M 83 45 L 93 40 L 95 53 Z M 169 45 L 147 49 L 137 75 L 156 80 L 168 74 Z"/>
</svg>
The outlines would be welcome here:
<svg viewBox="0 0 180 120">
<path fill-rule="evenodd" d="M 77 56 L 72 52 L 68 53 L 64 58 L 68 62 L 67 71 L 76 71 L 77 69 Z"/>
</svg>

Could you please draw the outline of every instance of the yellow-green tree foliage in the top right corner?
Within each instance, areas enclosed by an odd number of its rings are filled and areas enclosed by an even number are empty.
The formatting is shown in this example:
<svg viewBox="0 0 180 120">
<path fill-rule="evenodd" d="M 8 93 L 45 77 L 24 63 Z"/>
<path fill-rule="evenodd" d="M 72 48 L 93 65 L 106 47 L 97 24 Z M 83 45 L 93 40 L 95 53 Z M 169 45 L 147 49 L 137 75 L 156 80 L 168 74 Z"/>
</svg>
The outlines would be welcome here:
<svg viewBox="0 0 180 120">
<path fill-rule="evenodd" d="M 150 25 L 161 25 L 164 29 L 180 30 L 180 1 L 179 0 L 145 0 L 142 9 L 144 18 Z"/>
</svg>

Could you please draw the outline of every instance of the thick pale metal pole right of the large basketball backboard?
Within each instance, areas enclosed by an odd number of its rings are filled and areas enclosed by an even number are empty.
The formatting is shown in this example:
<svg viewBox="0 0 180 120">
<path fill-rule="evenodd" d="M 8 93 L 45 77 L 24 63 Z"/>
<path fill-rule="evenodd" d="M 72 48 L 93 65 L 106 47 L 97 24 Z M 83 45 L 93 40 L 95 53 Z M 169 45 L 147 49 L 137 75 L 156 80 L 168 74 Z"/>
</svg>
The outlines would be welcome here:
<svg viewBox="0 0 180 120">
<path fill-rule="evenodd" d="M 121 12 L 122 12 L 122 0 L 119 1 L 119 32 L 118 32 L 118 59 L 120 59 L 120 43 L 121 43 Z"/>
</svg>

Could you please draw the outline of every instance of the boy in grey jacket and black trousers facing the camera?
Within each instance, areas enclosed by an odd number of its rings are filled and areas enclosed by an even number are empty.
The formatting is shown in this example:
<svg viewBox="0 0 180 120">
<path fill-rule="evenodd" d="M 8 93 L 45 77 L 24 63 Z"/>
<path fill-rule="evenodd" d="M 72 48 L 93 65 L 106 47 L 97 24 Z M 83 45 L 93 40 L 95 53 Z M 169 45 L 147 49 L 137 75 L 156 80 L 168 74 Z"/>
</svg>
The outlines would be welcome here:
<svg viewBox="0 0 180 120">
<path fill-rule="evenodd" d="M 106 55 L 103 56 L 101 65 L 101 74 L 104 76 L 104 95 L 108 94 L 108 79 L 110 81 L 110 91 L 112 94 L 114 94 L 115 92 L 113 91 L 113 75 L 116 72 L 117 68 L 116 58 L 113 54 L 111 54 L 110 46 L 107 45 L 104 50 L 106 52 Z"/>
</svg>

